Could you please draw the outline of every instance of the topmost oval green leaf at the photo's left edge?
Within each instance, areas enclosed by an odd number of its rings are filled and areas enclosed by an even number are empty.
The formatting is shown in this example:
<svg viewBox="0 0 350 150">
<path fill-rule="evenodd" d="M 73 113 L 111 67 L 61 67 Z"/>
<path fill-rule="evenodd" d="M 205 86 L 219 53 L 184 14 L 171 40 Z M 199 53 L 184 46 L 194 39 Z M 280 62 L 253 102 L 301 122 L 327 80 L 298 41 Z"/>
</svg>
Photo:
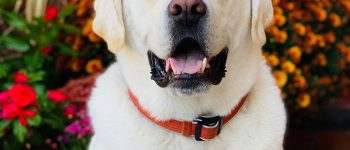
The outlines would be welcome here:
<svg viewBox="0 0 350 150">
<path fill-rule="evenodd" d="M 8 24 L 17 29 L 25 29 L 27 27 L 27 23 L 24 18 L 15 12 L 3 11 L 3 19 L 8 22 Z"/>
</svg>

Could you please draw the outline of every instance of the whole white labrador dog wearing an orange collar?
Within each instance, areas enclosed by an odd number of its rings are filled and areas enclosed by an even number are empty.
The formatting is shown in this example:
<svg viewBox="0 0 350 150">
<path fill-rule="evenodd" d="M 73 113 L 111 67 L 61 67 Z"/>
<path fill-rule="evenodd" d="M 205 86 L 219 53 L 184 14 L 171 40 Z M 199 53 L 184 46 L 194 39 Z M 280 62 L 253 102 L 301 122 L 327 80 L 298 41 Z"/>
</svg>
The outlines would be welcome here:
<svg viewBox="0 0 350 150">
<path fill-rule="evenodd" d="M 285 108 L 261 54 L 271 0 L 95 0 L 95 9 L 94 31 L 118 63 L 89 101 L 89 149 L 283 149 Z"/>
</svg>

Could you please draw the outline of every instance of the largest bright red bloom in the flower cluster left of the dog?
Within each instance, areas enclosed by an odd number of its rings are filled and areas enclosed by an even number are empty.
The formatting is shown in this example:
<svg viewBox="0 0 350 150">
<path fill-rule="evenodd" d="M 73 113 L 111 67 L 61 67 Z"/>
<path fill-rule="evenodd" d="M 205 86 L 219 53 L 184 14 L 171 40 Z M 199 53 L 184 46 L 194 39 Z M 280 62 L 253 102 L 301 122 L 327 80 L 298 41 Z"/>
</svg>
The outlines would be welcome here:
<svg viewBox="0 0 350 150">
<path fill-rule="evenodd" d="M 22 108 L 35 102 L 36 93 L 30 86 L 16 84 L 8 91 L 8 97 L 16 106 Z"/>
</svg>

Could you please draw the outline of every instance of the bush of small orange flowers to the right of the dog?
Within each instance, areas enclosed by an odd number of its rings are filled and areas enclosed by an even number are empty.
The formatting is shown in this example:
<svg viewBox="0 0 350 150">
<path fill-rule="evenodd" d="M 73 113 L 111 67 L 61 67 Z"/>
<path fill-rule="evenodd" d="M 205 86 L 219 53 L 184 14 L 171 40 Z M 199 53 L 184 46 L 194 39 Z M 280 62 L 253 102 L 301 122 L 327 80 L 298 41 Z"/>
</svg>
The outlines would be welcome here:
<svg viewBox="0 0 350 150">
<path fill-rule="evenodd" d="M 273 5 L 264 56 L 291 118 L 301 120 L 349 94 L 350 1 L 273 0 Z"/>
</svg>

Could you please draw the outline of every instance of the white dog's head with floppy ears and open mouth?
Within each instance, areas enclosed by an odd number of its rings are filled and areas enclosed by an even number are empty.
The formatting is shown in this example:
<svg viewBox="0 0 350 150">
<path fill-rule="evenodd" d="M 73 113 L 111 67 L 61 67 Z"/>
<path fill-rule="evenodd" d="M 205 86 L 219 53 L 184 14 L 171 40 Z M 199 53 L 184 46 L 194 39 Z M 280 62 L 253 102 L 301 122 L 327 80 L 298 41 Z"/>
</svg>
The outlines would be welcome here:
<svg viewBox="0 0 350 150">
<path fill-rule="evenodd" d="M 94 31 L 112 52 L 148 55 L 151 79 L 184 95 L 220 84 L 228 54 L 262 46 L 273 16 L 271 0 L 96 0 L 95 10 Z"/>
</svg>

